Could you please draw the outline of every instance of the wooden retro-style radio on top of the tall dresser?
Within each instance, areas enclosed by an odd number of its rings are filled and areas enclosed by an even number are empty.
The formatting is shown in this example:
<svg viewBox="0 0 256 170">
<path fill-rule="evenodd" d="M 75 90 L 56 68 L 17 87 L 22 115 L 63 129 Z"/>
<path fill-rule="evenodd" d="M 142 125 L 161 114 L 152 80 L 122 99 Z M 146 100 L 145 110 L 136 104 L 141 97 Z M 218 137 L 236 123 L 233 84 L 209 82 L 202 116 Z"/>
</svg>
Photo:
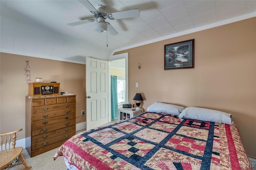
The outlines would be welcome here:
<svg viewBox="0 0 256 170">
<path fill-rule="evenodd" d="M 60 83 L 28 83 L 29 96 L 60 95 Z"/>
</svg>

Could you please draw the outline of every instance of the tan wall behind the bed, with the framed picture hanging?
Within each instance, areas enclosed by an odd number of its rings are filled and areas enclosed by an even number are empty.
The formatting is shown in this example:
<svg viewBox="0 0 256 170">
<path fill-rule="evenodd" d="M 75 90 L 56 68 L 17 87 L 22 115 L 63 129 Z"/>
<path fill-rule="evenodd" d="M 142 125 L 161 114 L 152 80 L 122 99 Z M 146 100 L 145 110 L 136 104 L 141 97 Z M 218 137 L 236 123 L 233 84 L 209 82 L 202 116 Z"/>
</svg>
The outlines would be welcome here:
<svg viewBox="0 0 256 170">
<path fill-rule="evenodd" d="M 255 30 L 250 18 L 115 53 L 129 55 L 129 101 L 143 93 L 145 110 L 158 101 L 232 113 L 248 156 L 256 158 Z M 164 45 L 191 39 L 195 68 L 164 70 Z"/>
</svg>

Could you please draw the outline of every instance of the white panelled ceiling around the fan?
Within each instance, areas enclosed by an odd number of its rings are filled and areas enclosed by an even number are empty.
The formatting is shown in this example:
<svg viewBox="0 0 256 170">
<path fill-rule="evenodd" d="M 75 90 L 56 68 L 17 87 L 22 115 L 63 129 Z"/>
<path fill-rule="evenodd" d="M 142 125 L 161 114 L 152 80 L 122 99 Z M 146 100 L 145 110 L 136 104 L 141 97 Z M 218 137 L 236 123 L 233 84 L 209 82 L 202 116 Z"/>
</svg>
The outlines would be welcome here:
<svg viewBox="0 0 256 170">
<path fill-rule="evenodd" d="M 256 16 L 256 0 L 89 0 L 106 13 L 138 8 L 140 17 L 106 22 L 118 35 L 95 31 L 94 18 L 78 0 L 0 0 L 1 52 L 85 63 L 114 51 Z M 108 43 L 108 47 L 107 44 Z"/>
</svg>

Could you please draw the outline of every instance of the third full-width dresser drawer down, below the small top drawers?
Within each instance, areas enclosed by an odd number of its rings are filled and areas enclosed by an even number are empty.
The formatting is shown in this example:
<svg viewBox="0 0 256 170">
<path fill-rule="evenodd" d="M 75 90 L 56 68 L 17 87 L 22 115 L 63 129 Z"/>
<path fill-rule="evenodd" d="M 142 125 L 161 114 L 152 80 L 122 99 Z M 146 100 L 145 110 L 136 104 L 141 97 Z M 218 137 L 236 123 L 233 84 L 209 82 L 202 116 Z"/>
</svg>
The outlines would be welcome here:
<svg viewBox="0 0 256 170">
<path fill-rule="evenodd" d="M 54 118 L 50 118 L 50 119 L 35 121 L 35 122 L 31 123 L 32 130 L 40 128 L 40 127 L 44 127 L 46 125 L 54 125 L 56 123 L 60 123 L 60 122 L 64 122 L 64 121 L 68 121 L 68 120 L 72 120 L 72 119 L 76 119 L 76 115 L 74 113 L 71 115 L 65 115 L 65 116 L 59 116 L 59 117 L 54 117 Z"/>
</svg>

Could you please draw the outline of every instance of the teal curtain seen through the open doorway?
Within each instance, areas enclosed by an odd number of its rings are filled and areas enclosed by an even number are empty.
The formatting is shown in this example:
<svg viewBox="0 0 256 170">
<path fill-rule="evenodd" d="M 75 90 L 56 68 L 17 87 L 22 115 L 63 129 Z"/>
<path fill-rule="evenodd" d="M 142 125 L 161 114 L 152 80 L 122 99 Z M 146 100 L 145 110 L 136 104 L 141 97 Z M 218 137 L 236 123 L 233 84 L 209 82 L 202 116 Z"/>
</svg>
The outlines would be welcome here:
<svg viewBox="0 0 256 170">
<path fill-rule="evenodd" d="M 111 75 L 111 120 L 117 118 L 117 76 Z"/>
</svg>

